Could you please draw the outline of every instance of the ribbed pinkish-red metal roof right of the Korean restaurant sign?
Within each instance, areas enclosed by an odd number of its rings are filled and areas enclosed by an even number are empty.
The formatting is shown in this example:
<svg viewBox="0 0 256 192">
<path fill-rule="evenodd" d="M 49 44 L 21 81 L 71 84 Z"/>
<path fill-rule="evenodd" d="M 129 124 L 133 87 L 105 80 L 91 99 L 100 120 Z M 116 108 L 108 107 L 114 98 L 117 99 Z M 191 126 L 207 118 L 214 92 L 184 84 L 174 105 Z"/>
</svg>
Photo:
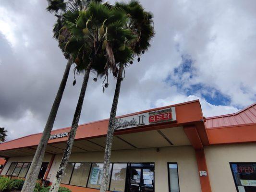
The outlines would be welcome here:
<svg viewBox="0 0 256 192">
<path fill-rule="evenodd" d="M 207 129 L 250 123 L 256 123 L 256 103 L 236 113 L 206 118 Z"/>
</svg>

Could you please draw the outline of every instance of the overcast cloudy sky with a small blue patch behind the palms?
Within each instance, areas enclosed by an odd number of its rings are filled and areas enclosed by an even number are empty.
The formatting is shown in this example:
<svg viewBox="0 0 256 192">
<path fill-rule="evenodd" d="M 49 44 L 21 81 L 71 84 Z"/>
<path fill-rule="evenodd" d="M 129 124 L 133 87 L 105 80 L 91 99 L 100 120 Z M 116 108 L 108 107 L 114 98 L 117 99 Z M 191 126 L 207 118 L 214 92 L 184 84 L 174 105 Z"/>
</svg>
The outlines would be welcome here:
<svg viewBox="0 0 256 192">
<path fill-rule="evenodd" d="M 114 2 L 114 1 L 111 1 Z M 141 0 L 156 36 L 126 69 L 118 115 L 200 99 L 204 116 L 256 101 L 255 0 Z M 0 127 L 8 140 L 42 132 L 67 60 L 46 0 L 0 0 Z M 73 70 L 73 67 L 72 67 Z M 115 81 L 86 90 L 80 124 L 109 117 Z M 70 73 L 54 129 L 71 125 L 82 77 Z"/>
</svg>

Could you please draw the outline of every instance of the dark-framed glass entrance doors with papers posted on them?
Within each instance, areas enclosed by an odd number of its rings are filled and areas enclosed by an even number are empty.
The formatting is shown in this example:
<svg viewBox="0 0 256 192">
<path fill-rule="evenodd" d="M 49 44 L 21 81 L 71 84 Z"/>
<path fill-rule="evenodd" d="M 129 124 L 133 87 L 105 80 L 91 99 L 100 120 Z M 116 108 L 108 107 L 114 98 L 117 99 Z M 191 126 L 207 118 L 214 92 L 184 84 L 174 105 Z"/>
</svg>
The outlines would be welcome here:
<svg viewBox="0 0 256 192">
<path fill-rule="evenodd" d="M 128 192 L 154 192 L 154 164 L 132 164 Z"/>
</svg>

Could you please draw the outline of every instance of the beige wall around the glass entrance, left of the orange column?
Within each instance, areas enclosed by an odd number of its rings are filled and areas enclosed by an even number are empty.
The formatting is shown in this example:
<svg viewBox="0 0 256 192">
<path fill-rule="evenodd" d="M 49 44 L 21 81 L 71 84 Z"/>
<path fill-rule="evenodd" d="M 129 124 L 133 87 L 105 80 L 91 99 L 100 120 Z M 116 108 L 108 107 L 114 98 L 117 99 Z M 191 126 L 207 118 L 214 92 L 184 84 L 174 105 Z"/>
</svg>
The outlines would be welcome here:
<svg viewBox="0 0 256 192">
<path fill-rule="evenodd" d="M 104 152 L 74 153 L 70 162 L 103 162 Z M 57 155 L 49 172 L 53 181 L 61 155 Z M 162 147 L 112 151 L 111 162 L 155 163 L 155 192 L 168 192 L 168 162 L 177 162 L 180 192 L 201 192 L 195 150 L 192 146 Z"/>
</svg>

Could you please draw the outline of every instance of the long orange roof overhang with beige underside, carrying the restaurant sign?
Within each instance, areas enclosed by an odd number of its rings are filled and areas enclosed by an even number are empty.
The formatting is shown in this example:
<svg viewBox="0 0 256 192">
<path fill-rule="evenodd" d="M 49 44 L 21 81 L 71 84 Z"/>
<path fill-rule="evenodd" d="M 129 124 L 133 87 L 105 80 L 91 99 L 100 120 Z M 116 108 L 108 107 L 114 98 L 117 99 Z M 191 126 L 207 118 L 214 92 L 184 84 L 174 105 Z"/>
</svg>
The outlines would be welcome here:
<svg viewBox="0 0 256 192">
<path fill-rule="evenodd" d="M 163 108 L 155 108 L 137 113 L 132 113 L 117 117 L 118 119 L 129 120 L 135 116 L 145 115 L 147 120 L 152 117 L 156 111 L 165 111 L 163 109 L 174 108 L 175 119 L 160 121 L 159 123 L 148 123 L 136 126 L 124 126 L 114 132 L 113 150 L 165 147 L 172 145 L 191 144 L 186 136 L 183 126 L 195 125 L 200 140 L 203 145 L 209 144 L 206 128 L 203 122 L 203 115 L 199 100 L 185 102 L 177 105 L 171 105 Z M 99 120 L 91 123 L 79 125 L 73 153 L 87 151 L 102 151 L 105 147 L 107 129 L 109 120 Z M 62 153 L 68 137 L 63 134 L 69 132 L 70 127 L 54 130 L 52 135 L 62 137 L 50 139 L 48 142 L 46 154 Z M 37 144 L 42 133 L 28 135 L 19 139 L 0 144 L 0 156 L 31 156 L 35 154 Z M 64 136 L 63 136 L 64 135 Z"/>
</svg>

